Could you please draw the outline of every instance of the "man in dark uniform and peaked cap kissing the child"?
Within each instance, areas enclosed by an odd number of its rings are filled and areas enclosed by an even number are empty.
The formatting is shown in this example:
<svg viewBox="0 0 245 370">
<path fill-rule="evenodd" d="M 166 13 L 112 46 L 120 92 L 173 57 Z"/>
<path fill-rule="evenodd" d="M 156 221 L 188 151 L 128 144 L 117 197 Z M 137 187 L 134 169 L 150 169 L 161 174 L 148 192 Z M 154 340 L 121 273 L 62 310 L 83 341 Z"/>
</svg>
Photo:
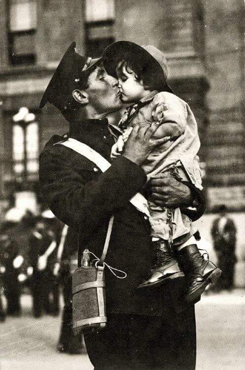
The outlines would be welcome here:
<svg viewBox="0 0 245 370">
<path fill-rule="evenodd" d="M 52 103 L 70 124 L 69 134 L 54 136 L 41 153 L 40 184 L 52 212 L 70 226 L 75 244 L 79 240 L 80 248 L 86 245 L 97 256 L 114 214 L 106 262 L 128 273 L 118 281 L 105 272 L 108 326 L 84 335 L 89 358 L 96 370 L 194 369 L 194 306 L 179 307 L 167 285 L 147 292 L 136 289 L 154 256 L 145 209 L 140 202 L 139 211 L 130 199 L 146 183 L 140 164 L 153 147 L 168 139 L 149 141 L 157 124 L 133 129 L 122 156 L 104 173 L 86 156 L 67 148 L 70 138 L 108 161 L 114 140 L 105 116 L 122 107 L 118 82 L 105 72 L 102 61 L 81 57 L 74 47 L 73 43 L 63 57 L 40 104 L 42 108 Z M 159 176 L 151 185 L 153 193 L 160 193 L 158 200 L 164 194 L 161 205 L 195 208 L 190 189 L 175 179 L 170 184 L 168 175 Z M 193 194 L 202 199 L 195 188 Z"/>
</svg>

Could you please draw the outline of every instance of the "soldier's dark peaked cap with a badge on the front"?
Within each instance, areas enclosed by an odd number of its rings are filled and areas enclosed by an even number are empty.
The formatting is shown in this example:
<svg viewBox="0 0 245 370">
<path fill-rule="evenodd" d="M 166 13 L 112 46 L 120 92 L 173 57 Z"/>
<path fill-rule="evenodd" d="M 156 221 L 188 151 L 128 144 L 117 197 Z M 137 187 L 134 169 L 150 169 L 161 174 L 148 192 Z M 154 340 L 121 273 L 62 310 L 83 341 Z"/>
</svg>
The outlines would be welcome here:
<svg viewBox="0 0 245 370">
<path fill-rule="evenodd" d="M 64 111 L 72 102 L 73 90 L 84 87 L 88 75 L 100 63 L 101 58 L 83 57 L 75 51 L 76 43 L 72 42 L 57 67 L 40 102 L 43 108 L 47 102 Z"/>
</svg>

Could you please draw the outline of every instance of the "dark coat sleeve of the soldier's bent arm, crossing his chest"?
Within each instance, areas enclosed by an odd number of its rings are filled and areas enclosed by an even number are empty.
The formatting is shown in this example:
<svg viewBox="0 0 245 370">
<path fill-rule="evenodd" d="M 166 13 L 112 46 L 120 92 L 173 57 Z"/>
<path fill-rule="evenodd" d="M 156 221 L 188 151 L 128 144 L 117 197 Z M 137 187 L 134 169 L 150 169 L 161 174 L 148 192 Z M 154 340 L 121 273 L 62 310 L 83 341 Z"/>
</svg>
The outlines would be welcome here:
<svg viewBox="0 0 245 370">
<path fill-rule="evenodd" d="M 79 155 L 76 168 L 69 150 L 46 150 L 39 161 L 43 197 L 55 216 L 69 226 L 78 228 L 82 224 L 83 228 L 95 229 L 124 207 L 146 182 L 142 169 L 123 156 L 94 180 L 88 171 L 90 162 Z"/>
</svg>

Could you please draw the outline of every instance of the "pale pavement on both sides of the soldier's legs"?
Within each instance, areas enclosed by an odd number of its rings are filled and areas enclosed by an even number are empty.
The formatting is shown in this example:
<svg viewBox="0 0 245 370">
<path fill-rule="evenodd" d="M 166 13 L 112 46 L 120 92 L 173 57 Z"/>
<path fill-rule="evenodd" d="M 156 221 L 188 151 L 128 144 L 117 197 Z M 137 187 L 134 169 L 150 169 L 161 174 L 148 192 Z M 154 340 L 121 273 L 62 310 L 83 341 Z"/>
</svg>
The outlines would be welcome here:
<svg viewBox="0 0 245 370">
<path fill-rule="evenodd" d="M 56 352 L 60 317 L 35 319 L 31 297 L 21 298 L 21 317 L 0 323 L 1 370 L 92 370 L 86 350 L 80 355 Z M 196 370 L 245 369 L 245 290 L 210 294 L 196 304 Z"/>
</svg>

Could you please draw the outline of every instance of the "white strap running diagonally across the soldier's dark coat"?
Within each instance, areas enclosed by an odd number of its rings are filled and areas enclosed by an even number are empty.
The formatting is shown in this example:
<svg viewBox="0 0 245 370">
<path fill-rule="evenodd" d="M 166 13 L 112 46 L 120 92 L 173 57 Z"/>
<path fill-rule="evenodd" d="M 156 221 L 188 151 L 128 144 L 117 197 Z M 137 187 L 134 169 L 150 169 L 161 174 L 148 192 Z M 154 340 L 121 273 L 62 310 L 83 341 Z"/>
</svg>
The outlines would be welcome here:
<svg viewBox="0 0 245 370">
<path fill-rule="evenodd" d="M 111 166 L 111 164 L 96 150 L 90 148 L 84 143 L 79 142 L 78 140 L 69 138 L 64 143 L 57 144 L 64 145 L 65 147 L 68 147 L 83 155 L 85 158 L 95 163 L 102 172 L 105 172 Z M 130 199 L 130 203 L 132 203 L 140 212 L 144 213 L 146 216 L 150 216 L 148 202 L 142 194 L 135 194 L 133 198 Z"/>
</svg>

